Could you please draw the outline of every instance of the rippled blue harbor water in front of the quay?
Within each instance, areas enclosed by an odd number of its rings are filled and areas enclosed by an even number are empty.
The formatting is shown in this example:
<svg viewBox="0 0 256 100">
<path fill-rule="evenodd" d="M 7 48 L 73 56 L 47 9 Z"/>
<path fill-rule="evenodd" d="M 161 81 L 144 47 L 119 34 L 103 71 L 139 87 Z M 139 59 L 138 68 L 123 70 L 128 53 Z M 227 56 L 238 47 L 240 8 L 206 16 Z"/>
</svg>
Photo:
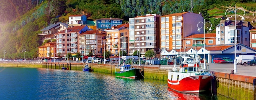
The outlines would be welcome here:
<svg viewBox="0 0 256 100">
<path fill-rule="evenodd" d="M 0 67 L 0 100 L 232 100 L 173 91 L 167 80 L 47 68 Z"/>
</svg>

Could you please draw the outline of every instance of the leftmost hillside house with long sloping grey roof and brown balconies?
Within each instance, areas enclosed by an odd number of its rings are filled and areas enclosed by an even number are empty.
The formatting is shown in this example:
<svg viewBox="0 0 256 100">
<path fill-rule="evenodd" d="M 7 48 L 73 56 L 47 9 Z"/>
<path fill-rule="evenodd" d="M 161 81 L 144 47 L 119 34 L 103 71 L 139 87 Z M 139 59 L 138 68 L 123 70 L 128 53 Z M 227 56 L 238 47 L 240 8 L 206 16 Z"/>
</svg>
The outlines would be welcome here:
<svg viewBox="0 0 256 100">
<path fill-rule="evenodd" d="M 46 39 L 55 39 L 55 33 L 61 31 L 61 30 L 65 30 L 67 28 L 69 28 L 70 26 L 66 23 L 61 23 L 58 22 L 56 24 L 51 24 L 45 28 L 43 28 L 42 30 L 42 34 L 38 34 L 38 36 L 42 37 L 42 41 L 46 40 Z"/>
</svg>

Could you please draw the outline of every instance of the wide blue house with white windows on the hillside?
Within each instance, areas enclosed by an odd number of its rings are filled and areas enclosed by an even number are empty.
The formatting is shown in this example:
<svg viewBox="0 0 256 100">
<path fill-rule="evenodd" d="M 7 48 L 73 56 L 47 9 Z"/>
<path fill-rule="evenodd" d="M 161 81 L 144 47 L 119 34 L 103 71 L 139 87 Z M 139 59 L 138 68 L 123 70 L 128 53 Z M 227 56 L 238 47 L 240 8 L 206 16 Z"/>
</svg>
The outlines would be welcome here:
<svg viewBox="0 0 256 100">
<path fill-rule="evenodd" d="M 96 26 L 97 29 L 101 29 L 101 30 L 105 30 L 108 28 L 111 28 L 112 26 L 118 26 L 123 24 L 123 20 L 124 19 L 120 19 L 120 18 L 101 18 L 101 19 L 97 19 L 96 20 Z"/>
</svg>

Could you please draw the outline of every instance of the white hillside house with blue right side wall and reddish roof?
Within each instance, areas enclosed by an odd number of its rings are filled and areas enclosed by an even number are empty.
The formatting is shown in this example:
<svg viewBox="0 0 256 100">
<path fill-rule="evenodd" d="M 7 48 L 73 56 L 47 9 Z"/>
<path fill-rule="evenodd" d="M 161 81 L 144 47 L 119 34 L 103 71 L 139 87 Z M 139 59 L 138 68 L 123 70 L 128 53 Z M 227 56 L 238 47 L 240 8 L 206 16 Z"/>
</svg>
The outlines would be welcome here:
<svg viewBox="0 0 256 100">
<path fill-rule="evenodd" d="M 70 15 L 68 17 L 68 24 L 71 26 L 81 26 L 85 25 L 87 22 L 87 17 L 83 14 L 81 15 Z"/>
</svg>

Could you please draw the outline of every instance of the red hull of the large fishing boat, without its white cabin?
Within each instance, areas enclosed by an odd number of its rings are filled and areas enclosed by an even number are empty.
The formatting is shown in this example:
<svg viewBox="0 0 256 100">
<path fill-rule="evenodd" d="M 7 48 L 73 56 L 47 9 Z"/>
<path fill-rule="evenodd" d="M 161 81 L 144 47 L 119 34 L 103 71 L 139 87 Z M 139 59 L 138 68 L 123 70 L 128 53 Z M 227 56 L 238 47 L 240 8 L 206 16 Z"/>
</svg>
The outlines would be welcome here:
<svg viewBox="0 0 256 100">
<path fill-rule="evenodd" d="M 212 76 L 200 75 L 200 76 L 189 76 L 177 81 L 171 81 L 168 79 L 168 87 L 182 93 L 200 93 L 208 91 L 211 88 Z"/>
</svg>

